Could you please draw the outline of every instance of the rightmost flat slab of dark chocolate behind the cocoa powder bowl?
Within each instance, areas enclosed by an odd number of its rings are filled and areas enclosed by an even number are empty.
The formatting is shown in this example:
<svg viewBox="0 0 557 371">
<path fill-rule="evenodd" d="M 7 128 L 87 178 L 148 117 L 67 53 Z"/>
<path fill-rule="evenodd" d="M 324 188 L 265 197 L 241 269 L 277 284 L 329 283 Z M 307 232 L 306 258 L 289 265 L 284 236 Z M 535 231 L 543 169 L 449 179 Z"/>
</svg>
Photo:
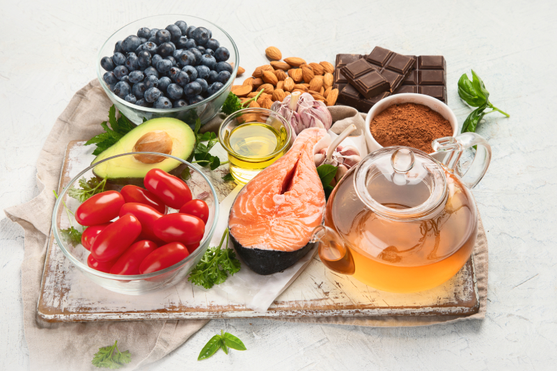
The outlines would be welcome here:
<svg viewBox="0 0 557 371">
<path fill-rule="evenodd" d="M 416 60 L 402 86 L 394 94 L 419 93 L 437 98 L 447 104 L 446 61 L 443 56 L 409 56 Z"/>
</svg>

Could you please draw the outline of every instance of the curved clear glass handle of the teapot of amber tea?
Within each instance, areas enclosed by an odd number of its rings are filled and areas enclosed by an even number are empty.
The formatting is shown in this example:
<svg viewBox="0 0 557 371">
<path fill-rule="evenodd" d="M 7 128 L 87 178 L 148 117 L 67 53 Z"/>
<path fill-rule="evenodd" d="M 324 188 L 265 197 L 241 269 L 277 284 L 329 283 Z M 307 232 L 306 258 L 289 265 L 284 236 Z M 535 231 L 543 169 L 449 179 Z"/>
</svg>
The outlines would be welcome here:
<svg viewBox="0 0 557 371">
<path fill-rule="evenodd" d="M 476 156 L 468 171 L 461 178 L 466 187 L 470 189 L 476 187 L 476 184 L 482 180 L 487 171 L 489 161 L 492 159 L 491 145 L 487 143 L 483 136 L 472 132 L 462 133 L 457 136 L 446 136 L 435 139 L 432 142 L 435 152 L 447 152 L 441 164 L 444 164 L 450 170 L 455 170 L 462 152 L 473 145 L 477 145 Z"/>
</svg>

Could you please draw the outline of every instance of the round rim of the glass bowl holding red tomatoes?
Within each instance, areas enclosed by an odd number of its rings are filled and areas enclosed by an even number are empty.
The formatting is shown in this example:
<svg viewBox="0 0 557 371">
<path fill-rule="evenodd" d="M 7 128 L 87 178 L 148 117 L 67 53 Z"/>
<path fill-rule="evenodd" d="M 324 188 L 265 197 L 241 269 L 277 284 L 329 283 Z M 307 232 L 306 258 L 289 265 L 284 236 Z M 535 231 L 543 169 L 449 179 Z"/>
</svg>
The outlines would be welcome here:
<svg viewBox="0 0 557 371">
<path fill-rule="evenodd" d="M 181 265 L 185 265 L 190 260 L 194 260 L 194 258 L 201 253 L 201 250 L 196 249 L 196 251 L 194 251 L 194 253 L 189 254 L 185 259 L 180 260 L 180 262 L 177 262 L 175 265 L 171 265 L 171 267 L 167 267 L 165 269 L 161 269 L 160 271 L 154 271 L 154 272 L 148 273 L 148 274 L 134 274 L 134 275 L 126 276 L 126 275 L 123 275 L 123 274 L 109 274 L 109 273 L 105 273 L 105 272 L 102 272 L 102 271 L 97 271 L 97 269 L 93 269 L 91 267 L 88 267 L 88 265 L 85 265 L 83 262 L 77 260 L 77 258 L 75 258 L 74 255 L 72 253 L 70 253 L 70 251 L 68 251 L 68 249 L 65 247 L 65 244 L 63 244 L 61 242 L 61 238 L 58 235 L 58 230 L 56 229 L 56 220 L 57 220 L 56 215 L 58 214 L 58 209 L 60 208 L 60 205 L 62 204 L 63 197 L 68 193 L 68 189 L 70 189 L 70 186 L 72 186 L 75 182 L 77 182 L 77 180 L 79 180 L 79 177 L 84 175 L 87 171 L 93 170 L 93 168 L 95 168 L 95 166 L 97 166 L 99 164 L 102 164 L 103 162 L 109 161 L 111 159 L 116 159 L 118 157 L 123 157 L 123 156 L 127 156 L 127 155 L 138 155 L 138 154 L 139 155 L 145 155 L 145 154 L 161 155 L 161 156 L 164 156 L 164 157 L 172 158 L 172 159 L 175 159 L 175 160 L 178 160 L 178 161 L 182 162 L 182 164 L 186 164 L 189 168 L 193 168 L 194 171 L 196 171 L 198 174 L 200 174 L 203 177 L 203 179 L 205 180 L 205 182 L 207 182 L 207 184 L 209 184 L 209 188 L 210 188 L 211 193 L 212 193 L 213 198 L 214 198 L 214 220 L 213 220 L 211 229 L 209 230 L 209 233 L 207 233 L 207 237 L 212 237 L 212 235 L 214 234 L 214 230 L 217 228 L 217 222 L 219 221 L 219 198 L 217 197 L 217 192 L 214 190 L 214 186 L 210 182 L 209 178 L 205 174 L 203 174 L 202 171 L 200 171 L 198 168 L 196 168 L 193 164 L 190 164 L 188 161 L 185 161 L 185 159 L 180 159 L 179 157 L 175 157 L 175 156 L 172 156 L 172 155 L 165 155 L 164 153 L 159 153 L 159 152 L 126 152 L 126 153 L 122 153 L 120 155 L 107 157 L 106 159 L 102 159 L 101 161 L 94 162 L 93 164 L 88 166 L 83 171 L 80 171 L 79 174 L 77 174 L 75 177 L 72 178 L 72 180 L 70 180 L 68 185 L 66 185 L 64 187 L 64 189 L 58 195 L 58 198 L 56 199 L 56 203 L 54 204 L 54 210 L 52 211 L 52 231 L 54 232 L 54 239 L 56 239 L 56 244 L 58 244 L 58 247 L 61 249 L 62 253 L 65 255 L 66 258 L 68 258 L 70 260 L 70 262 L 72 262 L 73 265 L 75 265 L 77 268 L 79 268 L 81 270 L 86 271 L 89 274 L 93 274 L 94 276 L 99 276 L 99 277 L 102 277 L 102 278 L 110 278 L 112 280 L 118 280 L 118 281 L 121 281 L 123 278 L 125 280 L 130 280 L 130 281 L 142 280 L 142 279 L 146 279 L 146 278 L 154 278 L 154 277 L 160 276 L 162 274 L 166 274 L 169 271 L 173 271 L 174 269 L 177 269 Z M 204 239 L 201 240 L 201 242 L 199 242 L 199 246 L 202 246 L 205 242 L 207 242 L 207 237 L 205 237 Z"/>
</svg>

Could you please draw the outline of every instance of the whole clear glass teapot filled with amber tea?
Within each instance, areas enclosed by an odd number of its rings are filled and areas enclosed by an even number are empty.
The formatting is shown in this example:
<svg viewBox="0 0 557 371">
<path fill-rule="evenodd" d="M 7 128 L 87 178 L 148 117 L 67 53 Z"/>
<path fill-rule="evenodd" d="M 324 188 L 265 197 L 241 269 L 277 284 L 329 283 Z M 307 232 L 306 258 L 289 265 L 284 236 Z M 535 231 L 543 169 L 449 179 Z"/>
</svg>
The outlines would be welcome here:
<svg viewBox="0 0 557 371">
<path fill-rule="evenodd" d="M 476 157 L 460 177 L 455 168 L 473 145 Z M 478 234 L 470 189 L 487 171 L 491 147 L 475 133 L 432 146 L 441 161 L 386 147 L 346 173 L 329 197 L 324 226 L 313 231 L 324 265 L 389 292 L 427 290 L 462 268 Z"/>
</svg>

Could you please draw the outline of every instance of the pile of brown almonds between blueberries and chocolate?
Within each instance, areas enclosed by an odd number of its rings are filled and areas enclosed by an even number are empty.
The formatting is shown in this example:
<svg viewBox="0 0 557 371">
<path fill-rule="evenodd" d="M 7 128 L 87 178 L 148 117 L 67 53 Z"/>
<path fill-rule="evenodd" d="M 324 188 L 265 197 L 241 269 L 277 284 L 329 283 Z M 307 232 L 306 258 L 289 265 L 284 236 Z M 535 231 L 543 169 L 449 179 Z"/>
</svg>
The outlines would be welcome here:
<svg viewBox="0 0 557 371">
<path fill-rule="evenodd" d="M 285 58 L 276 47 L 265 49 L 268 65 L 256 68 L 244 84 L 232 86 L 232 93 L 244 102 L 255 97 L 260 90 L 264 90 L 257 102 L 250 102 L 249 106 L 270 109 L 273 102 L 282 102 L 284 98 L 295 91 L 310 93 L 313 99 L 320 100 L 327 106 L 334 106 L 338 98 L 338 89 L 333 89 L 334 66 L 329 62 L 306 63 L 297 57 Z"/>
</svg>

